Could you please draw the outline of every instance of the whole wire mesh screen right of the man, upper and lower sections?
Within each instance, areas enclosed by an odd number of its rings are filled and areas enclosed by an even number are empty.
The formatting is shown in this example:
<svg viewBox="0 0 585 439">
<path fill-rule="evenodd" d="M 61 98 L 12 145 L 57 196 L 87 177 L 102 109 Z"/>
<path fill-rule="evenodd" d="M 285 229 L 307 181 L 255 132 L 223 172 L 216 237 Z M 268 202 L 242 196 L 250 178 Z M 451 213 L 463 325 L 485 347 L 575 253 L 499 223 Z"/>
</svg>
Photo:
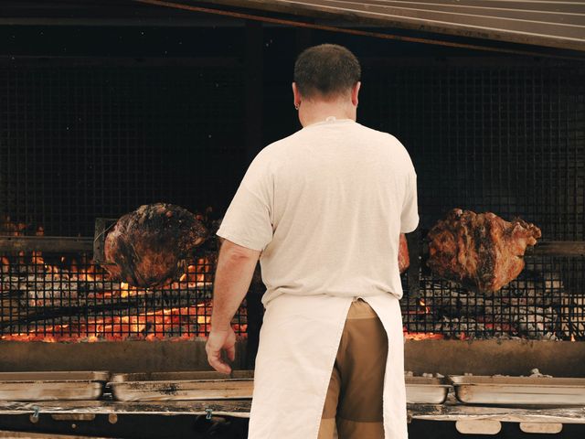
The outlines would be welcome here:
<svg viewBox="0 0 585 439">
<path fill-rule="evenodd" d="M 378 120 L 409 149 L 423 236 L 448 210 L 462 208 L 527 219 L 543 240 L 585 239 L 582 63 L 396 62 L 367 75 L 364 119 Z M 494 297 L 422 266 L 419 293 L 402 301 L 411 333 L 585 337 L 582 258 L 527 258 L 525 272 Z"/>
</svg>

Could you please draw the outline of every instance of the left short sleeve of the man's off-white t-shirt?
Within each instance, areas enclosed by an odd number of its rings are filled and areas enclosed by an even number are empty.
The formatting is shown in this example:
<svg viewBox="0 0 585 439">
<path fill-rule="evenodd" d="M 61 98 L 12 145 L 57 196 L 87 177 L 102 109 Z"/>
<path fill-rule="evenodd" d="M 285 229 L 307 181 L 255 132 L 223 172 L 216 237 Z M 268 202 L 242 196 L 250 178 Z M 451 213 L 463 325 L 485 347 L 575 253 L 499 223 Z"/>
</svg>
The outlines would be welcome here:
<svg viewBox="0 0 585 439">
<path fill-rule="evenodd" d="M 272 190 L 269 167 L 256 157 L 229 204 L 218 236 L 251 250 L 264 250 L 272 241 Z"/>
</svg>

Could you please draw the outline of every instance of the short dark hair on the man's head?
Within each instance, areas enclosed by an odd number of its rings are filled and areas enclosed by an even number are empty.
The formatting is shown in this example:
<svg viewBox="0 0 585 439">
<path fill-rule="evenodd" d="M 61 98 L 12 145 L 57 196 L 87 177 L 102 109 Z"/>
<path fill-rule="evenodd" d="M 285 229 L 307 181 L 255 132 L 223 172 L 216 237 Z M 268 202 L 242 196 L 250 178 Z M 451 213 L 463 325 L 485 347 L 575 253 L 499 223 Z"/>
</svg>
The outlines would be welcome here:
<svg viewBox="0 0 585 439">
<path fill-rule="evenodd" d="M 356 85 L 361 76 L 356 56 L 336 44 L 307 48 L 294 63 L 294 82 L 305 98 L 335 98 Z"/>
</svg>

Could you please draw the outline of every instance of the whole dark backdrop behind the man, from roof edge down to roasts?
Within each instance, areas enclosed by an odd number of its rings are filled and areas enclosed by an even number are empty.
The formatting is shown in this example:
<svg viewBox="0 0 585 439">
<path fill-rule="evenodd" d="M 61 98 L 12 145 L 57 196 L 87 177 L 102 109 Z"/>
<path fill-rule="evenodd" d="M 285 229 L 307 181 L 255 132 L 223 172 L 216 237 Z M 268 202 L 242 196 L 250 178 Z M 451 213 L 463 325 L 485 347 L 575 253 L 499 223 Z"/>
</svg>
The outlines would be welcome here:
<svg viewBox="0 0 585 439">
<path fill-rule="evenodd" d="M 93 233 L 165 201 L 221 216 L 250 159 L 300 128 L 299 51 L 363 64 L 358 121 L 396 135 L 422 228 L 454 207 L 585 239 L 585 64 L 239 23 L 0 27 L 0 214 Z"/>
</svg>

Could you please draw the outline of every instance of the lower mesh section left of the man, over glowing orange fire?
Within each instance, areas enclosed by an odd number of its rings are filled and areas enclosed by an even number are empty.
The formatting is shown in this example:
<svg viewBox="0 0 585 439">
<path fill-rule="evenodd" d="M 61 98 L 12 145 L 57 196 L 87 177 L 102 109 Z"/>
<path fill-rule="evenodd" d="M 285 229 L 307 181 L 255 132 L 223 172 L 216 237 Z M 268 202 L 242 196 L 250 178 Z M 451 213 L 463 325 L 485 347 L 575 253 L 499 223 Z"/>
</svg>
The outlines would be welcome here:
<svg viewBox="0 0 585 439">
<path fill-rule="evenodd" d="M 206 337 L 217 255 L 202 252 L 176 282 L 138 289 L 112 282 L 86 254 L 2 258 L 0 339 L 98 341 Z M 246 334 L 244 303 L 234 320 Z"/>
</svg>

